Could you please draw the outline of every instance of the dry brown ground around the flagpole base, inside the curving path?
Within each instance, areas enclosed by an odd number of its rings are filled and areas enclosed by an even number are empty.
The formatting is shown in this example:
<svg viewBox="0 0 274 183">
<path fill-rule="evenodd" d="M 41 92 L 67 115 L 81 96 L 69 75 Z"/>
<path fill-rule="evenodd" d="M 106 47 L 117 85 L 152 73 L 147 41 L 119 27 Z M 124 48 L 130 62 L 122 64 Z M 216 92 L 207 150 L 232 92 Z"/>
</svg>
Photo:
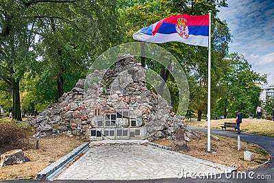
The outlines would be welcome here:
<svg viewBox="0 0 274 183">
<path fill-rule="evenodd" d="M 189 149 L 188 152 L 179 152 L 190 156 L 195 156 L 196 158 L 201 158 L 203 160 L 225 164 L 228 167 L 232 164 L 237 164 L 239 171 L 245 171 L 247 169 L 251 169 L 252 167 L 256 167 L 263 164 L 270 158 L 269 154 L 258 145 L 241 141 L 241 150 L 238 151 L 238 142 L 236 139 L 219 135 L 214 135 L 217 136 L 219 140 L 211 140 L 211 150 L 216 152 L 216 154 L 208 153 L 207 134 L 202 132 L 199 132 L 199 134 L 201 135 L 201 139 L 191 139 L 191 141 L 187 143 Z M 171 147 L 172 141 L 160 139 L 158 141 L 154 141 L 153 143 Z M 253 153 L 253 160 L 251 162 L 244 160 L 244 151 L 251 151 Z"/>
</svg>

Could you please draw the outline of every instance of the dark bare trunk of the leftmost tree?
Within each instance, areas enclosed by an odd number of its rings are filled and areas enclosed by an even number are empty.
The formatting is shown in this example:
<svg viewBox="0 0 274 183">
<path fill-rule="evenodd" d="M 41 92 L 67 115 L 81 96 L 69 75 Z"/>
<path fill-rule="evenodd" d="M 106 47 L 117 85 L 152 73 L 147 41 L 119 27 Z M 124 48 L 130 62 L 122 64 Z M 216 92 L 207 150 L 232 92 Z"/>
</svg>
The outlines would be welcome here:
<svg viewBox="0 0 274 183">
<path fill-rule="evenodd" d="M 21 117 L 21 105 L 20 105 L 20 93 L 19 82 L 12 77 L 12 114 L 14 119 L 22 121 Z"/>
</svg>

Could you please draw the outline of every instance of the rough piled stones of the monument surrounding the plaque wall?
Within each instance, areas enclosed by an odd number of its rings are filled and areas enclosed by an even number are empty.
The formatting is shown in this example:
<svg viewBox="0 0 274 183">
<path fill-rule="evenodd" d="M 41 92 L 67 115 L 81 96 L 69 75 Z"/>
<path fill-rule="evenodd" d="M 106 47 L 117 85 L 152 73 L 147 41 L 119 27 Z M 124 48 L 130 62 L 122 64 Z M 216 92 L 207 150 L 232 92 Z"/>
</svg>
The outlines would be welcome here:
<svg viewBox="0 0 274 183">
<path fill-rule="evenodd" d="M 138 80 L 134 78 L 136 73 Z M 184 127 L 184 117 L 175 116 L 166 100 L 147 89 L 145 78 L 142 78 L 145 77 L 145 69 L 132 56 L 124 56 L 116 62 L 114 69 L 91 73 L 86 80 L 102 74 L 104 74 L 103 80 L 95 88 L 99 88 L 99 105 L 105 112 L 114 112 L 121 106 L 141 112 L 142 122 L 150 130 L 149 132 L 153 132 L 149 140 L 172 138 L 177 125 Z M 92 105 L 88 101 L 92 97 L 97 97 L 92 95 L 84 97 L 86 80 L 79 80 L 69 93 L 65 93 L 59 99 L 58 103 L 51 104 L 30 122 L 38 130 L 35 136 L 66 134 L 84 138 L 86 130 L 95 125 L 90 119 L 89 112 Z M 123 86 L 123 83 L 129 84 Z"/>
</svg>

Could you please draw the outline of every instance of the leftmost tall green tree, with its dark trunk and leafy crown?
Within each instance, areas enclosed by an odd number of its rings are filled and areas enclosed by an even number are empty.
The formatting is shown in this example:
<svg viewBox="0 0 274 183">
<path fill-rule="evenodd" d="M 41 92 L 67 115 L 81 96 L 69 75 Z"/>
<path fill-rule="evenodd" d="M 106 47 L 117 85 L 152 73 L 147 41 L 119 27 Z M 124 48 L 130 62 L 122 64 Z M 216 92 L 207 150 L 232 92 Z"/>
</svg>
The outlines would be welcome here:
<svg viewBox="0 0 274 183">
<path fill-rule="evenodd" d="M 32 25 L 22 1 L 0 2 L 0 80 L 12 94 L 12 113 L 21 120 L 19 84 L 28 62 L 32 60 Z"/>
</svg>

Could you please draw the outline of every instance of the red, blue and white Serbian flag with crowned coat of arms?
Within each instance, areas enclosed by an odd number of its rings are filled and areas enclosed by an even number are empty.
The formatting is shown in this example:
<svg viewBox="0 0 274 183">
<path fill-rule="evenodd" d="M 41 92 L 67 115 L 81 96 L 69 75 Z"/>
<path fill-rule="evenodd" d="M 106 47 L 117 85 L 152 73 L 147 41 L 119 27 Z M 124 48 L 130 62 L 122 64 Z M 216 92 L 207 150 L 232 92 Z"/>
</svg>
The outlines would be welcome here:
<svg viewBox="0 0 274 183">
<path fill-rule="evenodd" d="M 133 34 L 135 40 L 145 42 L 184 42 L 188 45 L 208 47 L 209 14 L 191 16 L 180 14 L 169 16 L 140 29 Z"/>
</svg>

